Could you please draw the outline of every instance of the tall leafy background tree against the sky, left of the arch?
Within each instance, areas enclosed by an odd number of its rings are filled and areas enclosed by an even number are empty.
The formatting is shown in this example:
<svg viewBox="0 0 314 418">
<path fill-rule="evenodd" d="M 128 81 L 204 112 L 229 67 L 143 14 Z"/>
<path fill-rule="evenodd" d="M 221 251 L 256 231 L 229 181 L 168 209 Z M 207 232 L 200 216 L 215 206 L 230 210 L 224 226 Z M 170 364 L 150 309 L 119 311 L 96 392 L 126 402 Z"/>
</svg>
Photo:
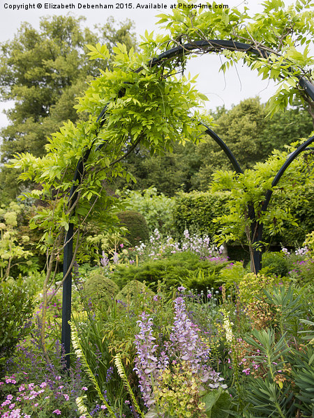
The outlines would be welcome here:
<svg viewBox="0 0 314 418">
<path fill-rule="evenodd" d="M 117 26 L 110 17 L 95 31 L 84 28 L 83 23 L 83 17 L 42 17 L 38 31 L 23 23 L 13 40 L 2 43 L 0 100 L 15 101 L 6 111 L 10 123 L 1 130 L 2 163 L 15 153 L 44 155 L 49 135 L 64 121 L 77 121 L 75 98 L 99 76 L 99 63 L 89 60 L 87 44 L 102 42 L 109 51 L 117 42 L 128 50 L 135 46 L 130 20 Z M 103 60 L 100 69 L 108 65 L 109 61 Z M 12 171 L 2 168 L 2 200 L 15 198 L 15 179 Z"/>
</svg>

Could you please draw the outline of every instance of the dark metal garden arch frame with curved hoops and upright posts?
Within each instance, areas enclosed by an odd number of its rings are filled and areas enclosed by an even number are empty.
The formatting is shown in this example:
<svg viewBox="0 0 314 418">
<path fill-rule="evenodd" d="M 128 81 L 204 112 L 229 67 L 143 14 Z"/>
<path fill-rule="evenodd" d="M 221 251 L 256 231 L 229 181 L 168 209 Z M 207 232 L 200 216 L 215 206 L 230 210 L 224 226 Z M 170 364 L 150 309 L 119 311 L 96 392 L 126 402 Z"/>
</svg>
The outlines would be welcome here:
<svg viewBox="0 0 314 418">
<path fill-rule="evenodd" d="M 172 49 L 167 50 L 166 52 L 163 52 L 163 54 L 160 54 L 158 57 L 151 59 L 149 61 L 149 65 L 155 66 L 160 65 L 162 66 L 165 61 L 169 61 L 174 58 L 181 58 L 184 56 L 184 54 L 191 53 L 195 50 L 202 51 L 204 53 L 214 52 L 218 53 L 222 51 L 223 49 L 228 49 L 230 51 L 241 51 L 246 52 L 247 54 L 253 54 L 257 56 L 261 56 L 262 58 L 266 58 L 269 56 L 269 52 L 267 52 L 266 49 L 263 47 L 259 47 L 258 49 L 253 47 L 253 45 L 248 45 L 242 42 L 234 42 L 233 40 L 200 40 L 193 43 L 187 43 L 185 45 L 178 45 L 177 47 L 174 47 Z M 140 71 L 141 69 L 138 69 L 137 71 Z M 311 84 L 307 79 L 304 77 L 299 76 L 299 85 L 301 88 L 304 89 L 305 93 L 314 100 L 314 85 Z M 120 94 L 123 95 L 123 89 L 120 91 Z M 106 113 L 107 106 L 103 108 L 103 110 L 100 112 L 100 115 L 98 116 L 97 121 L 100 123 L 99 130 L 103 126 L 104 123 L 104 116 Z M 229 158 L 230 162 L 232 163 L 232 166 L 234 167 L 234 170 L 237 173 L 242 173 L 241 167 L 239 166 L 239 163 L 237 162 L 237 159 L 232 154 L 231 150 L 227 147 L 225 142 L 218 137 L 218 135 L 213 132 L 209 127 L 205 126 L 206 130 L 205 132 L 211 136 L 214 141 L 220 146 L 220 148 L 223 149 L 226 156 Z M 98 131 L 99 132 L 99 131 Z M 97 132 L 97 133 L 98 133 Z M 96 137 L 97 137 L 96 133 Z M 281 176 L 283 176 L 283 173 L 289 167 L 289 165 L 292 163 L 292 161 L 301 153 L 302 151 L 306 150 L 308 145 L 310 145 L 314 141 L 314 137 L 309 138 L 304 144 L 301 144 L 297 150 L 292 153 L 285 163 L 283 164 L 283 167 L 278 171 L 277 175 L 275 176 L 272 186 L 274 187 L 277 185 L 278 181 L 281 179 Z M 100 150 L 103 147 L 104 144 L 100 144 L 96 148 L 96 151 Z M 84 164 L 87 162 L 89 155 L 91 153 L 91 148 L 87 149 L 82 159 L 78 162 L 75 175 L 73 177 L 73 187 L 70 189 L 70 196 L 69 196 L 69 202 L 68 205 L 72 206 L 73 202 L 77 199 L 77 187 L 80 185 L 82 181 L 82 175 L 83 175 L 83 169 Z M 267 210 L 269 201 L 271 199 L 272 190 L 268 190 L 265 195 L 265 200 L 263 203 L 263 210 Z M 251 208 L 251 218 L 255 218 L 254 209 Z M 262 240 L 262 231 L 263 231 L 263 224 L 258 224 L 257 222 L 253 222 L 251 226 L 251 233 L 253 236 L 253 243 L 258 242 Z M 258 272 L 261 268 L 261 259 L 262 254 L 260 251 L 254 251 L 254 268 L 255 271 Z M 63 348 L 66 353 L 66 367 L 68 368 L 70 366 L 70 314 L 71 314 L 71 288 L 72 288 L 72 265 L 73 265 L 73 223 L 69 224 L 68 231 L 66 233 L 65 238 L 65 245 L 63 249 L 63 297 L 62 297 L 62 331 L 61 331 L 61 344 L 63 345 Z"/>
</svg>

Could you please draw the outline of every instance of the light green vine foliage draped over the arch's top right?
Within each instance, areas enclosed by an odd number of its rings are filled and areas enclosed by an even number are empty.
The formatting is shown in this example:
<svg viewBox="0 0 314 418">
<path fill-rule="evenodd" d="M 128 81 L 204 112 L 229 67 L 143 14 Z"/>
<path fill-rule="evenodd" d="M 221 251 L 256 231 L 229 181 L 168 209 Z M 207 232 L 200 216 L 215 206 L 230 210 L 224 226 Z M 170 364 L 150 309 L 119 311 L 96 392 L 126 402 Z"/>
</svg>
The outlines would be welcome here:
<svg viewBox="0 0 314 418">
<path fill-rule="evenodd" d="M 282 0 L 267 0 L 262 12 L 255 15 L 250 15 L 247 7 L 240 12 L 237 8 L 215 8 L 216 3 L 206 4 L 209 8 L 178 8 L 170 15 L 160 15 L 160 24 L 171 33 L 167 47 L 177 42 L 211 42 L 213 39 L 232 39 L 252 45 L 257 56 L 236 50 L 223 52 L 223 48 L 216 47 L 216 52 L 226 60 L 220 69 L 225 71 L 241 59 L 263 79 L 274 79 L 278 90 L 268 103 L 271 115 L 287 107 L 288 103 L 292 104 L 297 90 L 297 94 L 310 104 L 313 113 L 313 100 L 308 100 L 298 86 L 299 77 L 313 80 L 310 48 L 314 35 L 313 1 L 297 0 L 285 7 Z M 299 51 L 299 45 L 304 47 L 302 51 Z M 267 52 L 267 57 L 261 49 Z"/>
</svg>

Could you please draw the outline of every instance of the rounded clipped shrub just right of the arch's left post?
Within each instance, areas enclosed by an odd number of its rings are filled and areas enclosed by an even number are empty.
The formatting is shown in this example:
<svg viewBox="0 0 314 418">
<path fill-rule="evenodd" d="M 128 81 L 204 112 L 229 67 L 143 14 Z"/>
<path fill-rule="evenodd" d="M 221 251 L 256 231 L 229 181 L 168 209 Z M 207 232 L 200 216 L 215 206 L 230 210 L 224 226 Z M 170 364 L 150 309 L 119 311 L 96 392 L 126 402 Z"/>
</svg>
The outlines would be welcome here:
<svg viewBox="0 0 314 418">
<path fill-rule="evenodd" d="M 103 274 L 93 274 L 85 281 L 84 294 L 94 304 L 101 304 L 106 307 L 110 301 L 119 293 L 119 286 Z"/>
</svg>

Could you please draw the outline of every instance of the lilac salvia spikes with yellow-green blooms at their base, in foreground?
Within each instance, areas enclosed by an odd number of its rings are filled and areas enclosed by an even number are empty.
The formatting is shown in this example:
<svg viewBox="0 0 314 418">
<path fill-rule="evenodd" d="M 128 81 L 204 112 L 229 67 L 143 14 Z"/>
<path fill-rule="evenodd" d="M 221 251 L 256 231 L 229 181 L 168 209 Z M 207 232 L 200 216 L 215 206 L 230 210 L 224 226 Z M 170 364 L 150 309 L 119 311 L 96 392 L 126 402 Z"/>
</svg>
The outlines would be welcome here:
<svg viewBox="0 0 314 418">
<path fill-rule="evenodd" d="M 154 417 L 154 414 L 159 416 L 160 411 L 172 416 L 180 392 L 173 396 L 170 381 L 174 383 L 177 380 L 178 384 L 180 379 L 184 378 L 184 382 L 188 379 L 186 384 L 193 388 L 193 395 L 191 392 L 190 396 L 194 401 L 200 401 L 201 396 L 212 390 L 226 389 L 223 378 L 209 366 L 208 341 L 202 339 L 200 330 L 188 318 L 183 297 L 174 300 L 174 322 L 169 340 L 164 341 L 163 346 L 156 344 L 153 318 L 143 313 L 138 324 L 140 333 L 135 336 L 135 371 L 140 380 L 144 404 L 150 412 L 149 417 Z M 184 398 L 179 398 L 179 401 L 184 405 Z M 193 402 L 188 408 L 192 408 Z M 200 410 L 201 403 L 195 404 Z M 166 410 L 165 405 L 168 405 Z M 192 410 L 182 416 L 192 417 L 194 412 Z"/>
</svg>

